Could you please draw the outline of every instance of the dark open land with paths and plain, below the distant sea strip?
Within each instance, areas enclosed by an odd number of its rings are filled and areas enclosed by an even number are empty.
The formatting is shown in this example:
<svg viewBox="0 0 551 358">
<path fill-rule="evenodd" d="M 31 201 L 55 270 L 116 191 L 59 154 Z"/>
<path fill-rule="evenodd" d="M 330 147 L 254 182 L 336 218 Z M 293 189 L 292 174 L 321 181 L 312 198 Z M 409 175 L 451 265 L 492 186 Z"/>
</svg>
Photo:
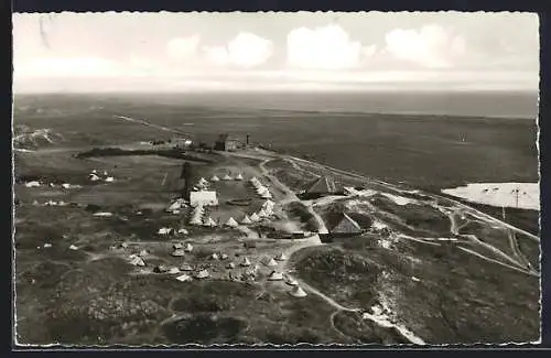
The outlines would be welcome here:
<svg viewBox="0 0 551 358">
<path fill-rule="evenodd" d="M 533 121 L 182 101 L 15 98 L 20 344 L 539 339 L 539 211 L 440 194 L 537 182 Z M 225 132 L 251 145 L 150 143 Z M 168 209 L 184 163 L 217 193 L 201 223 Z M 307 197 L 318 177 L 336 189 Z M 344 214 L 355 235 L 334 234 Z"/>
</svg>

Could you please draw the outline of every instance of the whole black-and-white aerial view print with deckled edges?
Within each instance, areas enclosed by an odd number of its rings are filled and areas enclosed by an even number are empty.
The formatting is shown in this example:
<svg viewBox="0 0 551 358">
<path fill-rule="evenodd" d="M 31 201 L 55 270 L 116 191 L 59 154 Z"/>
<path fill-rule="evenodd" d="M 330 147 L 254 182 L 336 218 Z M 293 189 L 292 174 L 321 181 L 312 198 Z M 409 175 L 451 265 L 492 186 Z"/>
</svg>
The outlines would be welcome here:
<svg viewBox="0 0 551 358">
<path fill-rule="evenodd" d="M 15 345 L 540 343 L 538 14 L 12 26 Z"/>
</svg>

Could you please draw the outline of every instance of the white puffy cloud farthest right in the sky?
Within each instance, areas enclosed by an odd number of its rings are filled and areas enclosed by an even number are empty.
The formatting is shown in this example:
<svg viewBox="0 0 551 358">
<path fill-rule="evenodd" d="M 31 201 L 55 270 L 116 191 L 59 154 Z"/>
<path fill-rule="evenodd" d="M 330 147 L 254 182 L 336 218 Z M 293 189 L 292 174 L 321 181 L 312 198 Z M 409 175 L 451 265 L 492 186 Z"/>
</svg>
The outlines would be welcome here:
<svg viewBox="0 0 551 358">
<path fill-rule="evenodd" d="M 396 29 L 385 42 L 386 52 L 396 58 L 433 68 L 453 67 L 453 59 L 465 53 L 464 39 L 440 25 Z"/>
</svg>

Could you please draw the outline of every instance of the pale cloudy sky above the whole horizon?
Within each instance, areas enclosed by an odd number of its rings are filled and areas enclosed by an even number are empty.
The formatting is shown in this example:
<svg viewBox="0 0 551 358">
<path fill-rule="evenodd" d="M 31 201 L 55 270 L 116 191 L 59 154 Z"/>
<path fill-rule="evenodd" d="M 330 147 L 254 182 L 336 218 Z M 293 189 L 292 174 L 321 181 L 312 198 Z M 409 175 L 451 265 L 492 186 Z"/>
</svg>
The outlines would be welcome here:
<svg viewBox="0 0 551 358">
<path fill-rule="evenodd" d="M 15 13 L 13 90 L 533 90 L 534 13 Z"/>
</svg>

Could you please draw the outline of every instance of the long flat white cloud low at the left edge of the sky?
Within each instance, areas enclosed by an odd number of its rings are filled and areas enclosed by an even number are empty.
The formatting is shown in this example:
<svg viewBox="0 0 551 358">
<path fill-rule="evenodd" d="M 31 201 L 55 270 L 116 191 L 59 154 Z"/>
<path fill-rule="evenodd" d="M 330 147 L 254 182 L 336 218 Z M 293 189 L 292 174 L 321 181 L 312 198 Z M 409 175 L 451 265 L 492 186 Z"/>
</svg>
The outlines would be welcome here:
<svg viewBox="0 0 551 358">
<path fill-rule="evenodd" d="M 117 63 L 101 57 L 40 57 L 15 63 L 22 77 L 109 77 L 123 74 Z"/>
</svg>

